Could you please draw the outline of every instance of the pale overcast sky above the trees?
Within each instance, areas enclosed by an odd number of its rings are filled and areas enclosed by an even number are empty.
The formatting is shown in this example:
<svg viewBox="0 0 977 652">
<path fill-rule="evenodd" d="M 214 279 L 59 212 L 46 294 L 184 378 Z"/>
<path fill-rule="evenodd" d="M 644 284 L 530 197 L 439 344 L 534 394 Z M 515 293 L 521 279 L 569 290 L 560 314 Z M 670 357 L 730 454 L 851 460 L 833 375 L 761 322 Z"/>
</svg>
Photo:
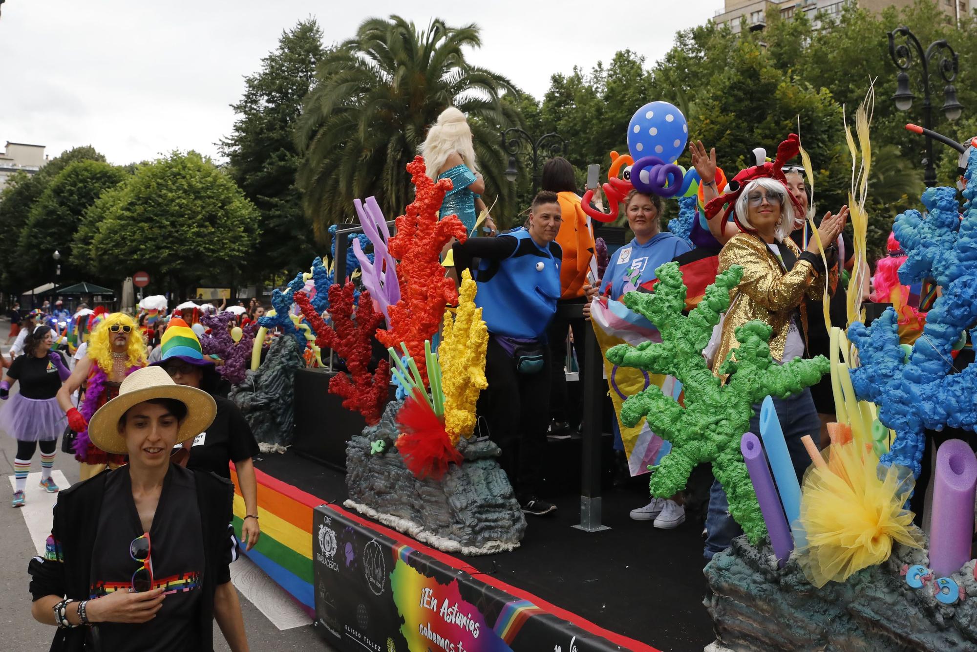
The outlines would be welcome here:
<svg viewBox="0 0 977 652">
<path fill-rule="evenodd" d="M 230 133 L 242 77 L 282 29 L 315 16 L 326 43 L 370 16 L 426 24 L 476 22 L 470 60 L 535 96 L 554 72 L 589 69 L 630 48 L 649 62 L 674 32 L 711 18 L 722 0 L 629 2 L 499 0 L 7 0 L 0 17 L 0 144 L 47 146 L 55 156 L 91 144 L 113 163 L 174 149 L 217 155 Z M 438 8 L 433 11 L 433 8 Z M 649 98 L 654 100 L 655 98 Z"/>
</svg>

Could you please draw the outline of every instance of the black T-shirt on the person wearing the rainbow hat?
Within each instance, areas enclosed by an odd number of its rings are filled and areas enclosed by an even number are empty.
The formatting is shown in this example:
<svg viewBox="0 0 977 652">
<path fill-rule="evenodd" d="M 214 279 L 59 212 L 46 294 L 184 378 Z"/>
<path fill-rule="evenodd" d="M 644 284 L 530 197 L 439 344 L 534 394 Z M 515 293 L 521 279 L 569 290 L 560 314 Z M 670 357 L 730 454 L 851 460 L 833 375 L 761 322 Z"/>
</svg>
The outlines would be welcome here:
<svg viewBox="0 0 977 652">
<path fill-rule="evenodd" d="M 214 397 L 217 415 L 214 422 L 193 438 L 187 468 L 211 471 L 231 479 L 229 463 L 258 455 L 258 442 L 244 415 L 229 399 Z"/>
</svg>

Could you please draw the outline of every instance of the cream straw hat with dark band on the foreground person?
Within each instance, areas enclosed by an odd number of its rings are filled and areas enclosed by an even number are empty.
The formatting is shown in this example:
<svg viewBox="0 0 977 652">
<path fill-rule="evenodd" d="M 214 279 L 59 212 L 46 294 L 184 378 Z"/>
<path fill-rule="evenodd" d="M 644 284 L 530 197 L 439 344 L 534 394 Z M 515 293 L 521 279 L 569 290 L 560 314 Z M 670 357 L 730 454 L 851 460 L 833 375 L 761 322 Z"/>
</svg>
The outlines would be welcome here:
<svg viewBox="0 0 977 652">
<path fill-rule="evenodd" d="M 176 384 L 159 367 L 136 369 L 122 381 L 119 395 L 92 415 L 88 423 L 88 436 L 92 443 L 106 453 L 128 453 L 125 439 L 118 431 L 119 419 L 129 408 L 149 399 L 176 399 L 187 406 L 187 416 L 177 431 L 177 444 L 206 430 L 217 414 L 217 404 L 202 389 Z"/>
</svg>

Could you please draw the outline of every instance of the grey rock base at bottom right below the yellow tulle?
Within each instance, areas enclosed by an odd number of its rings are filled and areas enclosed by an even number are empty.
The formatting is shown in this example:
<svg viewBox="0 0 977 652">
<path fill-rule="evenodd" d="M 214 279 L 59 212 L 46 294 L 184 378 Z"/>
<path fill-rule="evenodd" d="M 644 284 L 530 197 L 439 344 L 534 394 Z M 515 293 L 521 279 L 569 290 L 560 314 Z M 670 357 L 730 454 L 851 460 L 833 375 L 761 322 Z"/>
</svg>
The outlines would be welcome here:
<svg viewBox="0 0 977 652">
<path fill-rule="evenodd" d="M 717 644 L 732 650 L 977 649 L 973 560 L 951 576 L 966 592 L 953 605 L 934 597 L 936 578 L 921 588 L 906 584 L 904 566 L 927 562 L 926 550 L 897 545 L 883 564 L 816 588 L 794 559 L 778 570 L 768 545 L 740 537 L 706 565 L 713 594 L 705 606 Z"/>
</svg>

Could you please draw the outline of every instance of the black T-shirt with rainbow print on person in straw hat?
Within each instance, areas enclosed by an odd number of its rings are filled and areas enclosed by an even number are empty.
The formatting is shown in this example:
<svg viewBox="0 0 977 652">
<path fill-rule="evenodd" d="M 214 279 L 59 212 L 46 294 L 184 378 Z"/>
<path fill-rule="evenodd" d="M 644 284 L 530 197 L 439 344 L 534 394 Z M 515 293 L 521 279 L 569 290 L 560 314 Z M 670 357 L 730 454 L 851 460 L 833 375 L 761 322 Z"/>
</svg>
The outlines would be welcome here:
<svg viewBox="0 0 977 652">
<path fill-rule="evenodd" d="M 133 573 L 142 565 L 129 552 L 130 544 L 144 532 L 132 499 L 129 466 L 111 471 L 106 478 L 98 525 L 92 558 L 92 598 L 114 590 L 128 590 Z M 111 652 L 196 650 L 200 647 L 198 610 L 203 595 L 200 581 L 204 571 L 204 543 L 191 471 L 170 465 L 152 518 L 149 542 L 153 587 L 166 587 L 163 606 L 147 623 L 100 623 L 102 649 Z M 229 536 L 227 554 L 217 573 L 218 585 L 231 579 L 228 565 L 233 555 Z"/>
</svg>

